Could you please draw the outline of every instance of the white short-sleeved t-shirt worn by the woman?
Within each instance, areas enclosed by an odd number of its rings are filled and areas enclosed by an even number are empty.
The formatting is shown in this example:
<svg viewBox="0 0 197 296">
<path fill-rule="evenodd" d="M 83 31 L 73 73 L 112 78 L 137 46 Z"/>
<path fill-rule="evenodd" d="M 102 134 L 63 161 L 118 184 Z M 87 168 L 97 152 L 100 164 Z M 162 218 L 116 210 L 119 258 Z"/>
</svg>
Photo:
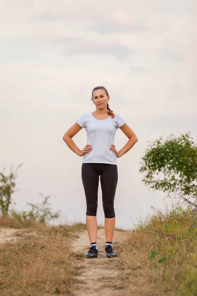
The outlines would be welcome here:
<svg viewBox="0 0 197 296">
<path fill-rule="evenodd" d="M 119 127 L 126 123 L 125 119 L 117 113 L 114 118 L 109 115 L 104 120 L 96 119 L 92 112 L 81 115 L 76 122 L 85 127 L 87 145 L 92 145 L 92 151 L 83 155 L 83 163 L 109 163 L 117 164 L 116 153 L 109 150 L 114 144 L 115 133 Z"/>
</svg>

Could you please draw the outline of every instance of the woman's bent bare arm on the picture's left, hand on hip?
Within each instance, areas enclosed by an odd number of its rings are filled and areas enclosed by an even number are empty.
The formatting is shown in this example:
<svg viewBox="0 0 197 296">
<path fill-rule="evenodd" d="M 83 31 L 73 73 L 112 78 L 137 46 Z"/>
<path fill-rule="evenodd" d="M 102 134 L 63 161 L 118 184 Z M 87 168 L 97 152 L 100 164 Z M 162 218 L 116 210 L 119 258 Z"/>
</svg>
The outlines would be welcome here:
<svg viewBox="0 0 197 296">
<path fill-rule="evenodd" d="M 64 134 L 63 140 L 65 141 L 66 145 L 77 155 L 83 156 L 84 153 L 92 151 L 91 145 L 86 145 L 83 150 L 80 150 L 72 140 L 72 138 L 82 129 L 82 127 L 75 122 Z"/>
</svg>

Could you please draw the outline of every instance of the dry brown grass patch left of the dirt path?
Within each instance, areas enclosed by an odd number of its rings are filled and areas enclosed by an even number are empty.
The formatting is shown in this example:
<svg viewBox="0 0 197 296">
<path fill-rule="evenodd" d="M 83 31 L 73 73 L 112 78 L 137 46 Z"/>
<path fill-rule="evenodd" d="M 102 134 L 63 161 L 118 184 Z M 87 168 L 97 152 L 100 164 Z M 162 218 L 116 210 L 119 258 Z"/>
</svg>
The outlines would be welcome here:
<svg viewBox="0 0 197 296">
<path fill-rule="evenodd" d="M 86 226 L 39 226 L 0 245 L 0 295 L 72 295 L 84 255 L 73 252 L 71 241 Z"/>
</svg>

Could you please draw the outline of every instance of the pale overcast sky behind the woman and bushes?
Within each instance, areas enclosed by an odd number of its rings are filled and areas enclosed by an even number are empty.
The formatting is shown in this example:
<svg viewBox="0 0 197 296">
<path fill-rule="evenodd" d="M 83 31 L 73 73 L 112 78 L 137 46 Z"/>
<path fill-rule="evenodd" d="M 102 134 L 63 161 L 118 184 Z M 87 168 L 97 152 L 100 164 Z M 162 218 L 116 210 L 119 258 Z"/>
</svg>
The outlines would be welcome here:
<svg viewBox="0 0 197 296">
<path fill-rule="evenodd" d="M 139 162 L 160 136 L 190 131 L 197 142 L 196 15 L 196 0 L 0 0 L 0 171 L 23 163 L 17 210 L 43 193 L 62 210 L 59 222 L 85 222 L 82 157 L 62 138 L 95 111 L 98 85 L 138 138 L 117 159 L 116 226 L 133 228 L 151 206 L 170 207 L 163 192 L 142 184 Z M 73 140 L 83 149 L 85 129 Z M 127 141 L 119 129 L 116 148 Z"/>
</svg>

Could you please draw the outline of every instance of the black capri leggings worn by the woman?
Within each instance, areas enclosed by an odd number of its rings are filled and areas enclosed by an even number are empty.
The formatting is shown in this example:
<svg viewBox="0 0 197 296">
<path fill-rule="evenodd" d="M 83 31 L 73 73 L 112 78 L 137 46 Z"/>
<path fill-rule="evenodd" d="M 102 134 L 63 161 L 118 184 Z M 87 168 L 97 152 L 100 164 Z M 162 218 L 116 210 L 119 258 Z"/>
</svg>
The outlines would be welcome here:
<svg viewBox="0 0 197 296">
<path fill-rule="evenodd" d="M 97 216 L 99 176 L 104 216 L 105 218 L 114 218 L 118 168 L 116 164 L 108 163 L 82 163 L 81 177 L 86 196 L 86 215 Z"/>
</svg>

